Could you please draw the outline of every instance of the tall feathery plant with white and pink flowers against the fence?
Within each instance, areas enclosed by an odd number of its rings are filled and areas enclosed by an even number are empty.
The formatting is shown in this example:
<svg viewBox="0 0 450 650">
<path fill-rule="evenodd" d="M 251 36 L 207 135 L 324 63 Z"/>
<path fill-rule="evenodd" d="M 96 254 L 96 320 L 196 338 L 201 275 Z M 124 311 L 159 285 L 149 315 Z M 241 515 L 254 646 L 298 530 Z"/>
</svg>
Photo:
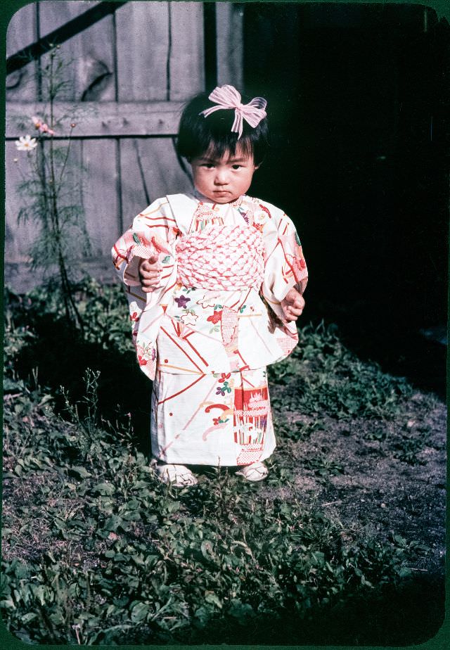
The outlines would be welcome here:
<svg viewBox="0 0 450 650">
<path fill-rule="evenodd" d="M 35 136 L 27 134 L 15 142 L 18 151 L 27 152 L 29 163 L 18 186 L 20 196 L 25 198 L 18 220 L 38 222 L 30 250 L 31 267 L 42 269 L 44 276 L 58 281 L 66 317 L 82 329 L 74 278 L 82 253 L 89 253 L 90 247 L 84 210 L 76 200 L 85 170 L 74 160 L 73 152 L 70 155 L 80 111 L 75 105 L 60 102 L 70 84 L 66 74 L 70 65 L 72 61 L 65 61 L 60 46 L 55 46 L 49 52 L 48 63 L 39 70 L 42 112 L 28 117 Z M 22 116 L 18 123 L 26 127 L 26 118 Z"/>
</svg>

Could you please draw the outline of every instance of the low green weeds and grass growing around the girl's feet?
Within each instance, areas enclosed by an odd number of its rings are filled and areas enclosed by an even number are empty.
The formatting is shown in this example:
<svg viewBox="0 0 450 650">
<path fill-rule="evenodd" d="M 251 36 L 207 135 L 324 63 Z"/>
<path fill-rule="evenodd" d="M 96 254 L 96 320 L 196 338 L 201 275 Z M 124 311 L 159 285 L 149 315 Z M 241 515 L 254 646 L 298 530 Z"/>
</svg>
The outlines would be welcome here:
<svg viewBox="0 0 450 650">
<path fill-rule="evenodd" d="M 265 485 L 214 468 L 201 469 L 195 487 L 160 483 L 129 403 L 115 402 L 119 393 L 99 371 L 104 359 L 116 369 L 117 359 L 134 362 L 122 294 L 85 283 L 85 338 L 61 335 L 54 348 L 63 322 L 55 295 L 7 298 L 0 606 L 14 635 L 58 644 L 301 644 L 326 639 L 326 621 L 341 642 L 389 640 L 395 614 L 380 631 L 373 611 L 393 594 L 401 599 L 426 546 L 349 532 L 305 502 L 283 456 L 271 461 Z M 418 463 L 426 436 L 406 425 L 396 437 L 388 426 L 406 418 L 411 386 L 360 362 L 333 327 L 307 326 L 301 338 L 270 370 L 281 447 L 313 438 L 326 418 L 363 417 L 385 452 Z M 67 377 L 70 363 L 87 357 L 82 381 L 58 388 L 49 369 L 64 359 Z M 320 480 L 346 471 L 326 451 L 302 463 Z M 349 612 L 359 620 L 340 629 Z"/>
</svg>

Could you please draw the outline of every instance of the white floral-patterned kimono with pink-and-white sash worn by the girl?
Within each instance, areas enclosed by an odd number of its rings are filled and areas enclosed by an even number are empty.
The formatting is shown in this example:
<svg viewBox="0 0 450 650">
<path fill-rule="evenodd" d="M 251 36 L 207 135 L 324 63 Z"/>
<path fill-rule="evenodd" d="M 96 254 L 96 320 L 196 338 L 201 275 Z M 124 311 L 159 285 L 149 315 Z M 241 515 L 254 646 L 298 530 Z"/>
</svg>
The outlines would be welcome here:
<svg viewBox="0 0 450 650">
<path fill-rule="evenodd" d="M 280 303 L 307 283 L 293 222 L 259 198 L 174 194 L 137 215 L 112 253 L 137 359 L 153 380 L 153 456 L 214 466 L 268 458 L 276 442 L 266 366 L 298 342 Z M 160 283 L 144 293 L 139 262 L 152 255 Z"/>
</svg>

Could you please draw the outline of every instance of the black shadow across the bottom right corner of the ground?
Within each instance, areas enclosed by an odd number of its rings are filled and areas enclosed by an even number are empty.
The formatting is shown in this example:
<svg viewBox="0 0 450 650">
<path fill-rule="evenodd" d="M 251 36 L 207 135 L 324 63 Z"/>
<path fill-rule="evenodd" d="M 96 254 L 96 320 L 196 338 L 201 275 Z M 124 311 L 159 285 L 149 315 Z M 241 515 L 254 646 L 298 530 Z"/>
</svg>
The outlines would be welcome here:
<svg viewBox="0 0 450 650">
<path fill-rule="evenodd" d="M 300 615 L 295 607 L 236 620 L 220 618 L 178 644 L 254 646 L 410 646 L 432 639 L 444 622 L 444 580 L 420 576 L 398 587 L 374 589 L 376 595 L 349 597 L 335 606 L 311 608 Z M 300 606 L 301 608 L 301 606 Z M 133 642 L 130 639 L 130 642 Z M 137 640 L 136 640 L 137 642 Z M 173 639 L 167 640 L 173 644 Z M 155 636 L 141 644 L 160 644 Z"/>
</svg>

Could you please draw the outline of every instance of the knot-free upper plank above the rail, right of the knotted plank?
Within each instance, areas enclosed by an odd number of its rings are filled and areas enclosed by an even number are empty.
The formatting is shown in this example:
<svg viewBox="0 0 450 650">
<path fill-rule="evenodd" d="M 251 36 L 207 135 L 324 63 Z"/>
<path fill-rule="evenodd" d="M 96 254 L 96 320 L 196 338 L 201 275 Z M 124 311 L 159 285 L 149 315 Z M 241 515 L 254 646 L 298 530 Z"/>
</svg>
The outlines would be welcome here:
<svg viewBox="0 0 450 650">
<path fill-rule="evenodd" d="M 167 99 L 168 3 L 129 2 L 117 10 L 115 18 L 117 99 Z"/>
</svg>

